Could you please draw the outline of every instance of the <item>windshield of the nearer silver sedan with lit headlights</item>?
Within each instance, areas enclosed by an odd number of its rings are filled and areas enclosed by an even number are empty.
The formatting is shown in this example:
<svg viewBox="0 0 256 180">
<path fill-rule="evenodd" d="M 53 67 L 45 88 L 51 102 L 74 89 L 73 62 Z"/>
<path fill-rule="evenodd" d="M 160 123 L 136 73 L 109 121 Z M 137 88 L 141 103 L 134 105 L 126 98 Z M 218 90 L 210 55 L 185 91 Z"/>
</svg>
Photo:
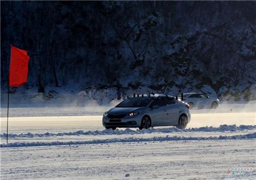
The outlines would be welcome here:
<svg viewBox="0 0 256 180">
<path fill-rule="evenodd" d="M 116 107 L 145 107 L 151 99 L 150 97 L 128 98 L 119 103 Z"/>
</svg>

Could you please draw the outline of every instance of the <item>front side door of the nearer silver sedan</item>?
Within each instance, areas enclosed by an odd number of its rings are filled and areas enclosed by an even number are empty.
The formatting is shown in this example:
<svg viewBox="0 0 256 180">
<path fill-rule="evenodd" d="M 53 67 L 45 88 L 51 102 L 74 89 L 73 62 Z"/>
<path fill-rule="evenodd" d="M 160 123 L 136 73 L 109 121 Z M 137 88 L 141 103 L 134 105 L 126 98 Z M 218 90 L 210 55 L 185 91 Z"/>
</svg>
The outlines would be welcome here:
<svg viewBox="0 0 256 180">
<path fill-rule="evenodd" d="M 152 108 L 154 105 L 159 105 L 158 108 Z M 163 97 L 158 97 L 150 105 L 151 108 L 151 124 L 152 126 L 164 125 L 167 121 L 167 108 Z"/>
</svg>

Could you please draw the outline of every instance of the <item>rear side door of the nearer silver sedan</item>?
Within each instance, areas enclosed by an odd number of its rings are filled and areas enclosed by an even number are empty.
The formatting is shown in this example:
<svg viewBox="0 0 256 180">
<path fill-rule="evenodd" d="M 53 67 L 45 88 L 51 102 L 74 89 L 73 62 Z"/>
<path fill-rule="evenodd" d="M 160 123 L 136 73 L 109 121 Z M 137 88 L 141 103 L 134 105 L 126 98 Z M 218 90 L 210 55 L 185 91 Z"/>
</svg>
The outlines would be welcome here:
<svg viewBox="0 0 256 180">
<path fill-rule="evenodd" d="M 165 98 L 164 100 L 167 108 L 167 121 L 165 122 L 165 125 L 176 125 L 180 115 L 179 103 L 178 101 L 175 101 L 174 98 Z"/>
</svg>

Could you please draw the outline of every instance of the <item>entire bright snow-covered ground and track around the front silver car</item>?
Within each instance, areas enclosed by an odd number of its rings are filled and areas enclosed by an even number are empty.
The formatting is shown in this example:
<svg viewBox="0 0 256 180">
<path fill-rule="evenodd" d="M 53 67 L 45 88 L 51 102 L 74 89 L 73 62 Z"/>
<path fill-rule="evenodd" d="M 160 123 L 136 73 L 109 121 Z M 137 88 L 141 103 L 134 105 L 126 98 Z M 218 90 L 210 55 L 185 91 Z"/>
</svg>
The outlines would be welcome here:
<svg viewBox="0 0 256 180">
<path fill-rule="evenodd" d="M 191 110 L 185 130 L 114 131 L 99 116 L 109 107 L 11 108 L 8 144 L 2 108 L 1 179 L 253 179 L 255 105 L 229 107 Z"/>
</svg>

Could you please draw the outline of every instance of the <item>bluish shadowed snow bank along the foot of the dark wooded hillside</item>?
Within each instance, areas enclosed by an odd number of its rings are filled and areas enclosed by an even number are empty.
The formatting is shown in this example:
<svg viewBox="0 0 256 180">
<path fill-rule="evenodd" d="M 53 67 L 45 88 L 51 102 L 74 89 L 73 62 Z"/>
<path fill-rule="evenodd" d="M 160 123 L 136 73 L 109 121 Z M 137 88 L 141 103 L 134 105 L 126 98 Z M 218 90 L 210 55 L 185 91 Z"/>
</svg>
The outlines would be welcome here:
<svg viewBox="0 0 256 180">
<path fill-rule="evenodd" d="M 10 93 L 10 103 L 9 106 L 11 108 L 57 108 L 58 110 L 68 109 L 71 107 L 75 108 L 87 108 L 87 107 L 96 107 L 97 109 L 113 107 L 116 104 L 120 103 L 123 98 L 126 99 L 127 96 L 131 96 L 135 94 L 148 94 L 156 93 L 156 94 L 168 94 L 170 96 L 175 96 L 178 92 L 178 88 L 169 89 L 168 91 L 154 91 L 149 87 L 138 87 L 138 89 L 125 89 L 121 93 L 117 92 L 116 87 L 108 87 L 108 88 L 88 88 L 85 90 L 81 90 L 78 84 L 68 85 L 63 87 L 53 87 L 46 86 L 46 93 L 38 93 L 36 87 L 31 87 L 25 89 L 24 87 L 17 87 L 15 91 L 11 91 Z M 7 88 L 1 89 L 1 107 L 7 107 Z M 183 89 L 183 92 L 190 92 Z M 214 90 L 209 86 L 205 86 L 202 89 L 198 89 L 198 93 L 204 93 L 207 96 L 220 98 L 216 95 Z M 122 94 L 124 93 L 124 94 Z M 118 97 L 120 98 L 118 100 Z M 254 106 L 256 100 L 244 100 L 240 99 L 239 101 L 234 100 L 221 100 L 222 108 L 224 109 L 233 109 L 233 110 L 248 110 L 251 109 L 251 106 Z M 32 109 L 33 110 L 33 109 Z M 209 109 L 208 109 L 209 110 Z M 31 115 L 27 115 L 31 116 Z"/>
</svg>

